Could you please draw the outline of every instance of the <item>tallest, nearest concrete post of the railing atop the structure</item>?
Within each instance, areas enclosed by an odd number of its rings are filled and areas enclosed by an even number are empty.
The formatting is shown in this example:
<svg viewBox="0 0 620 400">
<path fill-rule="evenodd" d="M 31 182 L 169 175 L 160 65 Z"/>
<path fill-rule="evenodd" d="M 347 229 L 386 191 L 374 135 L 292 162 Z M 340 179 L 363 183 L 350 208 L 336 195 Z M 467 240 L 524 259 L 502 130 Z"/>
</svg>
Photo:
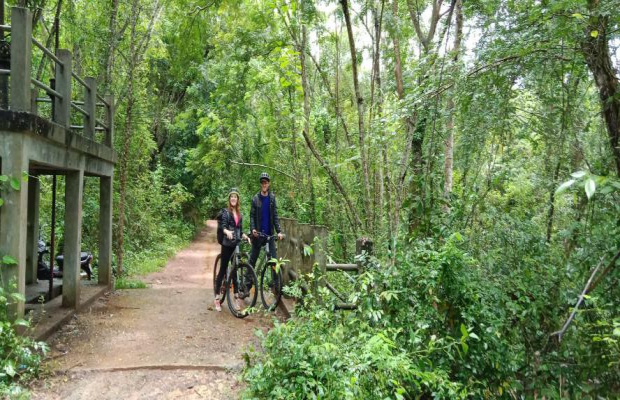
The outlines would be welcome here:
<svg viewBox="0 0 620 400">
<path fill-rule="evenodd" d="M 30 111 L 32 63 L 32 14 L 11 8 L 11 110 Z"/>
</svg>

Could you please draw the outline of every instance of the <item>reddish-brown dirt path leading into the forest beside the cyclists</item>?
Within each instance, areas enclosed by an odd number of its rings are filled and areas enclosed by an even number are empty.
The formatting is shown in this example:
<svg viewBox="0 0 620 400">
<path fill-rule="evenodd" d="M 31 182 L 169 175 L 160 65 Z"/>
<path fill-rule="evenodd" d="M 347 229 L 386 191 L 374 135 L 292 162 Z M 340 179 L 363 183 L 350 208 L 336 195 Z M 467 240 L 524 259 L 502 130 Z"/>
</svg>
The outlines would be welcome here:
<svg viewBox="0 0 620 400">
<path fill-rule="evenodd" d="M 215 222 L 143 280 L 79 314 L 48 341 L 55 375 L 34 399 L 230 399 L 241 355 L 269 318 L 213 310 Z"/>
</svg>

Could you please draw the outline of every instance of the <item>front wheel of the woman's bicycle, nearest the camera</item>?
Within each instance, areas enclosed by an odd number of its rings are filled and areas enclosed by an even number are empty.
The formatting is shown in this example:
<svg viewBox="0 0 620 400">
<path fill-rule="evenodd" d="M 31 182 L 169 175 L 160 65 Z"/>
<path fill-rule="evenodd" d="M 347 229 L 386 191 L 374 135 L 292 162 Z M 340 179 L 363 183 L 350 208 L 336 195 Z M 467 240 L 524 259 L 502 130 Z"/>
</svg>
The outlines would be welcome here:
<svg viewBox="0 0 620 400">
<path fill-rule="evenodd" d="M 236 265 L 226 283 L 228 309 L 237 318 L 245 318 L 256 305 L 258 283 L 254 268 L 247 263 Z"/>
</svg>

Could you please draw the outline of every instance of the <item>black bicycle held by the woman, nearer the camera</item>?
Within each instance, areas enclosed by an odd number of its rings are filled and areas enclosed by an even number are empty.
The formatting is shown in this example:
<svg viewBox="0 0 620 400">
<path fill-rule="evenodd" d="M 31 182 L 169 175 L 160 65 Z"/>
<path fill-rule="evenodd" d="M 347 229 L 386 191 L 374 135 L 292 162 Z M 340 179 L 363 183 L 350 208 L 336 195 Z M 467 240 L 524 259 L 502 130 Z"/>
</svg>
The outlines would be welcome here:
<svg viewBox="0 0 620 400">
<path fill-rule="evenodd" d="M 239 250 L 239 242 L 237 242 L 235 251 L 228 263 L 226 278 L 222 282 L 222 286 L 216 288 L 218 269 L 221 267 L 221 257 L 221 254 L 217 255 L 215 258 L 215 265 L 213 266 L 213 291 L 216 293 L 219 291 L 221 302 L 226 298 L 228 309 L 232 315 L 237 318 L 245 318 L 249 315 L 248 310 L 256 305 L 256 300 L 258 298 L 258 292 L 256 291 L 256 287 L 258 286 L 256 273 L 250 264 L 241 260 L 241 251 Z M 234 295 L 235 288 L 237 288 L 236 297 Z M 241 300 L 244 307 L 237 309 L 234 303 L 236 299 Z"/>
</svg>

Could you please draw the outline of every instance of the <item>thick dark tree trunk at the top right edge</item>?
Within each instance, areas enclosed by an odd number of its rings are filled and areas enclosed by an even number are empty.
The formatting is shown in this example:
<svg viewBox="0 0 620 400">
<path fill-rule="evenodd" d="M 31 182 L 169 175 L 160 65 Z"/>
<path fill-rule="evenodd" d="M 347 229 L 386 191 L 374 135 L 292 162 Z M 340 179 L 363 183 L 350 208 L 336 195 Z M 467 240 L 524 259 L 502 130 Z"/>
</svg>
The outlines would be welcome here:
<svg viewBox="0 0 620 400">
<path fill-rule="evenodd" d="M 607 38 L 609 16 L 598 14 L 598 7 L 599 0 L 588 0 L 591 17 L 585 31 L 585 39 L 581 42 L 581 51 L 599 90 L 609 144 L 616 172 L 620 175 L 620 93 L 609 54 Z"/>
</svg>

